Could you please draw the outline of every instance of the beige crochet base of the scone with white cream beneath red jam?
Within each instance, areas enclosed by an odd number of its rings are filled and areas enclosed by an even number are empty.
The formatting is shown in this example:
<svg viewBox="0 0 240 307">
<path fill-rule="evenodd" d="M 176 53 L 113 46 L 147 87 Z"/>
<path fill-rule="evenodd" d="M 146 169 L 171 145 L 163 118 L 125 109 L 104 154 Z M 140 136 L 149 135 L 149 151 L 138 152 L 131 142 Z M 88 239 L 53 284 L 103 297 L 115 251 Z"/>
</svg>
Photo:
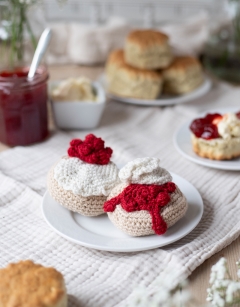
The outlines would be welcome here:
<svg viewBox="0 0 240 307">
<path fill-rule="evenodd" d="M 54 179 L 54 167 L 50 169 L 47 177 L 48 191 L 53 199 L 67 209 L 85 216 L 97 216 L 105 213 L 103 204 L 107 200 L 107 196 L 83 197 L 75 195 L 72 191 L 64 190 Z"/>
</svg>

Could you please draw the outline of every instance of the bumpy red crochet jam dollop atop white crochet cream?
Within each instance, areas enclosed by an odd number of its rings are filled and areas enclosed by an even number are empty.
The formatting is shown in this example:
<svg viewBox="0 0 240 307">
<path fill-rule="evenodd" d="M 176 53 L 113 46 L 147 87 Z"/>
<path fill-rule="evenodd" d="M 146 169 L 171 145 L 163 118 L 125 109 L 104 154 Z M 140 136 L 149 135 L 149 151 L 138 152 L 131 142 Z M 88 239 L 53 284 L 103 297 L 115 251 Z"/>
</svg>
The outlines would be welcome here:
<svg viewBox="0 0 240 307">
<path fill-rule="evenodd" d="M 68 149 L 69 157 L 76 157 L 90 164 L 108 164 L 112 155 L 110 147 L 104 148 L 104 141 L 93 134 L 88 134 L 84 141 L 74 139 Z"/>
</svg>

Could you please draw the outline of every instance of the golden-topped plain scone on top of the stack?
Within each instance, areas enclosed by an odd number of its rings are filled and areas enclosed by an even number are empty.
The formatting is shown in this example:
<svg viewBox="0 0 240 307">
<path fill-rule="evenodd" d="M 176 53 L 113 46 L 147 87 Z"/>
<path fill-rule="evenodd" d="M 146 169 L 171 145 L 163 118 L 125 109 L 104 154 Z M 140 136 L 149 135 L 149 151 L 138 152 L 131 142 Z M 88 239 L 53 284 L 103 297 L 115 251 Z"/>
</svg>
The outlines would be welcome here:
<svg viewBox="0 0 240 307">
<path fill-rule="evenodd" d="M 159 69 L 173 60 L 168 36 L 156 30 L 135 30 L 126 39 L 126 62 L 136 68 Z"/>
</svg>

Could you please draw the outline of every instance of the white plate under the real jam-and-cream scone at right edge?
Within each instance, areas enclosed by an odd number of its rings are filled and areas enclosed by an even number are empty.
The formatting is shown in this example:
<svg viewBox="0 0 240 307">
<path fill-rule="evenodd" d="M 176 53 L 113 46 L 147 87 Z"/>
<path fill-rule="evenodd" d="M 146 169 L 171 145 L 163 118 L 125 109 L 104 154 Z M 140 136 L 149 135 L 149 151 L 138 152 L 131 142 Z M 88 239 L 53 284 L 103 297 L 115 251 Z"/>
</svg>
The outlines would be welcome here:
<svg viewBox="0 0 240 307">
<path fill-rule="evenodd" d="M 240 109 L 240 108 L 239 108 Z M 224 111 L 223 111 L 224 110 Z M 236 106 L 232 106 L 232 107 L 222 107 L 219 109 L 206 109 L 204 112 L 201 112 L 199 115 L 196 116 L 204 116 L 207 113 L 224 113 L 224 112 L 228 112 L 228 111 L 237 111 L 237 107 Z M 174 143 L 174 147 L 175 149 L 178 151 L 178 153 L 180 153 L 184 158 L 186 158 L 187 160 L 194 162 L 198 165 L 204 166 L 204 167 L 209 167 L 209 168 L 214 168 L 214 169 L 218 169 L 218 170 L 224 170 L 224 171 L 234 171 L 234 172 L 238 172 L 240 171 L 240 161 L 239 161 L 239 168 L 233 168 L 231 166 L 228 166 L 228 163 L 231 161 L 216 161 L 216 160 L 211 160 L 211 159 L 207 159 L 207 158 L 202 158 L 196 155 L 196 157 L 192 157 L 189 156 L 184 150 L 182 150 L 182 148 L 179 146 L 178 143 L 178 136 L 181 132 L 182 129 L 184 129 L 186 126 L 189 126 L 190 123 L 195 119 L 196 117 L 192 117 L 191 119 L 185 121 L 174 133 L 173 135 L 173 143 Z M 190 140 L 190 132 L 189 132 L 189 144 L 191 145 L 191 140 Z M 223 166 L 219 166 L 219 165 L 215 165 L 214 162 L 218 162 L 218 163 L 222 163 Z"/>
</svg>

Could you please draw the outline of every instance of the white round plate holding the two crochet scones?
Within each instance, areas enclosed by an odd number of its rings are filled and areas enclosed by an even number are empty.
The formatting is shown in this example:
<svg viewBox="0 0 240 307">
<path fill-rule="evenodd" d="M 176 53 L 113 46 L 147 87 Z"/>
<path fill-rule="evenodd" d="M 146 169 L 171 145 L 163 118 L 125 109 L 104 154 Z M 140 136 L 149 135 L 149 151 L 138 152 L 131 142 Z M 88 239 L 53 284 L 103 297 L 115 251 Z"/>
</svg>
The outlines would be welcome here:
<svg viewBox="0 0 240 307">
<path fill-rule="evenodd" d="M 182 177 L 171 174 L 173 181 L 186 196 L 186 215 L 162 235 L 130 237 L 118 230 L 107 214 L 86 217 L 59 205 L 45 193 L 42 211 L 48 225 L 60 236 L 76 244 L 111 252 L 136 252 L 173 243 L 191 232 L 201 220 L 203 201 L 196 188 Z"/>
</svg>

